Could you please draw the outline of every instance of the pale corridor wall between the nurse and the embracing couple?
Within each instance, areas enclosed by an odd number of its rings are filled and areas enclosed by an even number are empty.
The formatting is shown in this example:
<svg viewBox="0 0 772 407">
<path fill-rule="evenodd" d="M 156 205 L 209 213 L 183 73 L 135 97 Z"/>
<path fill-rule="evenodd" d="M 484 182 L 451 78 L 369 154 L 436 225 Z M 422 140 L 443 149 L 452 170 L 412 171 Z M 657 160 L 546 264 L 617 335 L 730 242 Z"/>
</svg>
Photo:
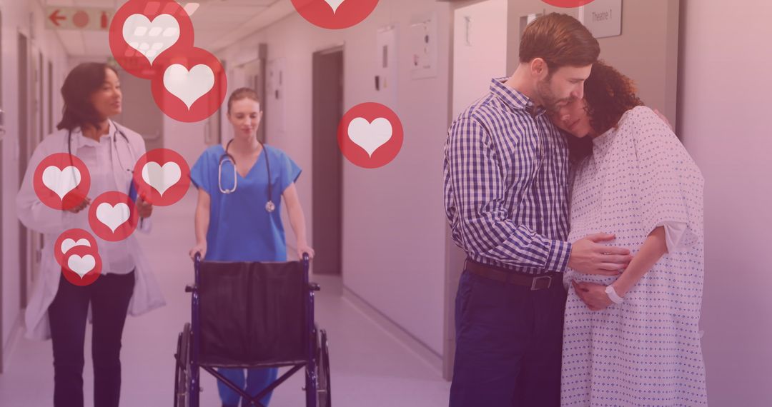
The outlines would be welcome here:
<svg viewBox="0 0 772 407">
<path fill-rule="evenodd" d="M 439 73 L 411 80 L 411 17 L 427 12 L 438 13 Z M 303 167 L 298 188 L 310 227 L 313 52 L 345 44 L 346 109 L 387 103 L 374 89 L 376 30 L 397 26 L 398 98 L 390 107 L 405 126 L 405 143 L 399 156 L 381 169 L 344 164 L 344 284 L 437 355 L 442 352 L 442 144 L 449 123 L 450 18 L 450 5 L 434 0 L 380 2 L 367 20 L 340 31 L 319 29 L 293 14 L 218 55 L 238 59 L 242 50 L 266 42 L 269 59 L 285 59 L 285 132 L 269 130 L 268 140 Z M 267 109 L 270 122 L 269 104 Z"/>
</svg>

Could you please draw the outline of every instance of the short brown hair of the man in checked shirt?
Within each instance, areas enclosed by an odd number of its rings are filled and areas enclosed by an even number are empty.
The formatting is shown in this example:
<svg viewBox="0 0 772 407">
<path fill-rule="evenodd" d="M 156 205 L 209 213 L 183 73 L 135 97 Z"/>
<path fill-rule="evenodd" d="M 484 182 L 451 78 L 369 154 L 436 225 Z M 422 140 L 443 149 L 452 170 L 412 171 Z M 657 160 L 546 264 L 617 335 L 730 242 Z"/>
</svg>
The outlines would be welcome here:
<svg viewBox="0 0 772 407">
<path fill-rule="evenodd" d="M 571 15 L 550 13 L 533 20 L 520 39 L 520 62 L 541 58 L 550 76 L 563 66 L 588 66 L 598 60 L 598 40 Z"/>
</svg>

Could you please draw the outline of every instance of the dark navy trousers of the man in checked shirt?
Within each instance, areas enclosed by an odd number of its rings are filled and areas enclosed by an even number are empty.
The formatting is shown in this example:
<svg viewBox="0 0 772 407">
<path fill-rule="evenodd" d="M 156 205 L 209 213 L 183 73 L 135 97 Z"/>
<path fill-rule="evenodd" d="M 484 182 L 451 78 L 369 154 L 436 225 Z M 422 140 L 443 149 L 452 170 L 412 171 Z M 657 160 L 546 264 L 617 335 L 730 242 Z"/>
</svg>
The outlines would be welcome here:
<svg viewBox="0 0 772 407">
<path fill-rule="evenodd" d="M 455 298 L 451 407 L 560 406 L 566 291 L 531 291 L 464 271 Z"/>
</svg>

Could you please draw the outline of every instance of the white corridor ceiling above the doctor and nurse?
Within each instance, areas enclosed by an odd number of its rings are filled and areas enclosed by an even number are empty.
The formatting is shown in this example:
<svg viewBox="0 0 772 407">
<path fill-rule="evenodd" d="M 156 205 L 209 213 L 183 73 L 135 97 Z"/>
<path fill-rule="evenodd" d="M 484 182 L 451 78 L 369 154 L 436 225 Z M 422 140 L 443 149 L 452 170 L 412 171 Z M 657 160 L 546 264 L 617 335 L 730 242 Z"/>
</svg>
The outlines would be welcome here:
<svg viewBox="0 0 772 407">
<path fill-rule="evenodd" d="M 177 0 L 198 3 L 191 16 L 195 46 L 216 52 L 295 12 L 290 0 Z M 113 8 L 127 0 L 39 0 L 44 5 Z M 46 15 L 46 18 L 48 16 Z M 56 30 L 66 52 L 73 56 L 109 56 L 107 31 Z"/>
</svg>

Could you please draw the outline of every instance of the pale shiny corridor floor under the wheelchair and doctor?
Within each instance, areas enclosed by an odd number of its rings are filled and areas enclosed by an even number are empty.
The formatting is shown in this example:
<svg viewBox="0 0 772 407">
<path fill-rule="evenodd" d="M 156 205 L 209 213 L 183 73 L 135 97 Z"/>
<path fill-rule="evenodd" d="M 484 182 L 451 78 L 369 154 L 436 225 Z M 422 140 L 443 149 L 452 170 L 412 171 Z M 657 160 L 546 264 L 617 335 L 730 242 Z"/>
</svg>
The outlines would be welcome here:
<svg viewBox="0 0 772 407">
<path fill-rule="evenodd" d="M 121 405 L 172 405 L 174 348 L 189 321 L 192 280 L 187 251 L 193 242 L 195 199 L 188 194 L 173 207 L 157 207 L 154 230 L 141 237 L 167 305 L 139 318 L 129 318 L 124 331 Z M 337 407 L 432 407 L 448 405 L 449 382 L 388 331 L 375 324 L 340 295 L 340 279 L 314 278 L 323 286 L 317 296 L 317 321 L 330 335 L 333 405 Z M 90 333 L 86 335 L 89 337 Z M 84 392 L 92 406 L 93 372 L 86 341 Z M 219 406 L 215 379 L 202 373 L 202 406 Z M 303 376 L 296 374 L 274 392 L 272 407 L 304 405 Z M 52 405 L 53 370 L 50 341 L 19 338 L 6 372 L 0 375 L 0 405 Z"/>
</svg>

